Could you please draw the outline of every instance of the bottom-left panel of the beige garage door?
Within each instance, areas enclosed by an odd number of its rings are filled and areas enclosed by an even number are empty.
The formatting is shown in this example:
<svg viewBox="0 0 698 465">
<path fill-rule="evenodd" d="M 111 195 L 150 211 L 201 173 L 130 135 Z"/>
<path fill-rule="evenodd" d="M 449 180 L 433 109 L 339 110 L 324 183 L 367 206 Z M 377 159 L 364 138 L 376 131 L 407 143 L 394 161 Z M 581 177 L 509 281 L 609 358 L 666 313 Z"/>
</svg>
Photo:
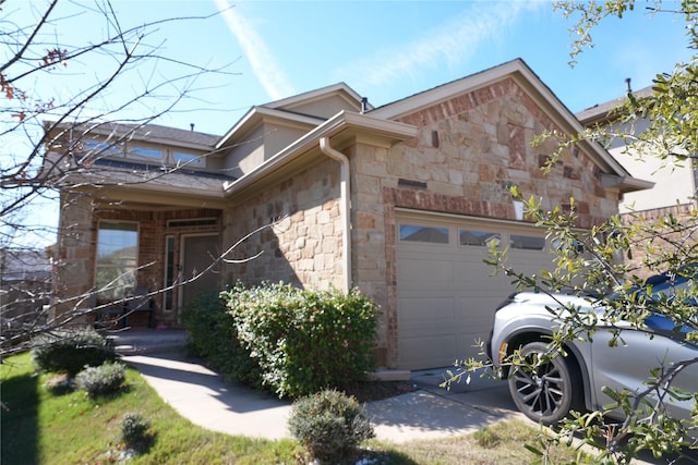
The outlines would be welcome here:
<svg viewBox="0 0 698 465">
<path fill-rule="evenodd" d="M 457 353 L 455 334 L 432 338 L 405 338 L 398 343 L 400 365 L 444 367 L 453 365 Z M 438 365 L 432 365 L 437 363 Z"/>
</svg>

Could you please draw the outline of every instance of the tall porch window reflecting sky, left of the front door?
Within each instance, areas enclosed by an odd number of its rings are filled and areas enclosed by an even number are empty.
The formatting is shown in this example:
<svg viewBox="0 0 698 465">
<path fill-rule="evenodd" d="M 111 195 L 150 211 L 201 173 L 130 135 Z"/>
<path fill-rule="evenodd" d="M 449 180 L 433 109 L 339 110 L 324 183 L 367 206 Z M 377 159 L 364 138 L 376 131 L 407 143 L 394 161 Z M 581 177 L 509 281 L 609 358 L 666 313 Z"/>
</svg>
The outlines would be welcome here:
<svg viewBox="0 0 698 465">
<path fill-rule="evenodd" d="M 139 266 L 139 224 L 125 221 L 101 221 L 97 232 L 95 285 L 106 301 L 122 298 L 135 286 Z"/>
</svg>

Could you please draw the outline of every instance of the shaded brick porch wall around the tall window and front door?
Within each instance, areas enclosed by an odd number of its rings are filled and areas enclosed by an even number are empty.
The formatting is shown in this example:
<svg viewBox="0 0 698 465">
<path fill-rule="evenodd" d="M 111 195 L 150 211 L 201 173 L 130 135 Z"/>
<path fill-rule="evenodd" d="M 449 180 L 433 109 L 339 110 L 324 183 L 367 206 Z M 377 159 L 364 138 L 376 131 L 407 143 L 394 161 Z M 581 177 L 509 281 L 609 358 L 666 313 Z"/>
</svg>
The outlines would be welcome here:
<svg viewBox="0 0 698 465">
<path fill-rule="evenodd" d="M 181 234 L 218 233 L 220 225 L 167 228 L 167 221 L 172 219 L 219 218 L 220 210 L 215 209 L 181 209 L 151 211 L 133 208 L 105 208 L 96 204 L 96 198 L 85 193 L 61 193 L 61 224 L 58 246 L 58 271 L 56 277 L 56 293 L 59 298 L 70 298 L 88 293 L 94 285 L 96 241 L 100 219 L 136 221 L 139 222 L 139 265 L 144 267 L 137 272 L 137 285 L 157 291 L 164 286 L 165 273 L 165 236 L 173 234 L 177 240 L 176 256 L 179 256 Z M 158 322 L 177 326 L 177 313 L 164 313 L 161 297 L 155 296 L 156 320 Z M 80 308 L 88 308 L 94 299 L 81 303 Z M 74 301 L 57 305 L 55 314 L 72 310 Z M 135 316 L 133 320 L 140 315 Z M 89 325 L 94 316 L 81 318 L 76 323 Z M 145 325 L 146 319 L 142 318 Z"/>
</svg>

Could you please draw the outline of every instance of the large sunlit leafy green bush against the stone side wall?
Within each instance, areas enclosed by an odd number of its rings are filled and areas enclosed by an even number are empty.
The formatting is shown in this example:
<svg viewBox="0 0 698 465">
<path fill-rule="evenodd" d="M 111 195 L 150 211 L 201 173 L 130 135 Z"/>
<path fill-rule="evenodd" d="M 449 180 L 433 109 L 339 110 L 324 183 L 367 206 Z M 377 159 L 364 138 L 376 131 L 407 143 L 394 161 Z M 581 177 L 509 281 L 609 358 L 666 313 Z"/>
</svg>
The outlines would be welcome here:
<svg viewBox="0 0 698 465">
<path fill-rule="evenodd" d="M 267 284 L 221 293 L 242 346 L 279 397 L 345 390 L 374 369 L 377 306 L 352 290 Z"/>
</svg>

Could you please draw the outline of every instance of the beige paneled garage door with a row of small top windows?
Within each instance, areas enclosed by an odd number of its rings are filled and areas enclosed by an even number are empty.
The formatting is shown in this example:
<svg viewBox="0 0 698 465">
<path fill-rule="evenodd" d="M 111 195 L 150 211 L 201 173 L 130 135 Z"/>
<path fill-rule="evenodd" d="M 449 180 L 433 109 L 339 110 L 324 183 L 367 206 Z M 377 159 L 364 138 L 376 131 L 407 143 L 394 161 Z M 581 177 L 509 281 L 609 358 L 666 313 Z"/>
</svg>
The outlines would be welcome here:
<svg viewBox="0 0 698 465">
<path fill-rule="evenodd" d="M 493 277 L 489 244 L 510 247 L 517 270 L 540 273 L 553 256 L 544 231 L 530 225 L 401 213 L 397 224 L 398 365 L 453 366 L 474 357 L 512 279 Z"/>
</svg>

